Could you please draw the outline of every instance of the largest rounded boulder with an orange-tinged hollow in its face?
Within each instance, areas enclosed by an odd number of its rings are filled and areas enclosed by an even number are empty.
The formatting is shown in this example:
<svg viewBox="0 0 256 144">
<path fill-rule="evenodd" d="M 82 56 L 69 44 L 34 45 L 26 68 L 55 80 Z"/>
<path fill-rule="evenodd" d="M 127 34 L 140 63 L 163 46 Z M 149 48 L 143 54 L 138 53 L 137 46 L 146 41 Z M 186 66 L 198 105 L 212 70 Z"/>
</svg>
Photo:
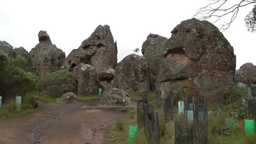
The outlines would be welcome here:
<svg viewBox="0 0 256 144">
<path fill-rule="evenodd" d="M 172 30 L 159 67 L 157 87 L 162 97 L 174 89 L 215 97 L 233 86 L 236 57 L 217 27 L 190 19 Z"/>
</svg>

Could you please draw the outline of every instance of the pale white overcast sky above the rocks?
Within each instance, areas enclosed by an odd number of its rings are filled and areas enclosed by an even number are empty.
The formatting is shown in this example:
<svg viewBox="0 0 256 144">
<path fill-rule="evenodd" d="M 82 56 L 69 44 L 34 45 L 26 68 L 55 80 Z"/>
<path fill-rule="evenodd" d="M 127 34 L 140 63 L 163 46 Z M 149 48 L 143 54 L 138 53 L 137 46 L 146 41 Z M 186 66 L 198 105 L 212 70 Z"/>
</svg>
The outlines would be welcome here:
<svg viewBox="0 0 256 144">
<path fill-rule="evenodd" d="M 0 41 L 30 51 L 38 43 L 38 32 L 46 30 L 52 43 L 67 57 L 98 25 L 109 25 L 117 41 L 118 61 L 121 61 L 135 48 L 141 49 L 150 33 L 170 38 L 175 26 L 192 18 L 196 10 L 207 3 L 206 0 L 2 0 Z M 246 62 L 256 64 L 256 34 L 249 33 L 244 25 L 244 17 L 251 8 L 241 9 L 231 28 L 223 32 L 234 47 L 236 69 Z"/>
</svg>

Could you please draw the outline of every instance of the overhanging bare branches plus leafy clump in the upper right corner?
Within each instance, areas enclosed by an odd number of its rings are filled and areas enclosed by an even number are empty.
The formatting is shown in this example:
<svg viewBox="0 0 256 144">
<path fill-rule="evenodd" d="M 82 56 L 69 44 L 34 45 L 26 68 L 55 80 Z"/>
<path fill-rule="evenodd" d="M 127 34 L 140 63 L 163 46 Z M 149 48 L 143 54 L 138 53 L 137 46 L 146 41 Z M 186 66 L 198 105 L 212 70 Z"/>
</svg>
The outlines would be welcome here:
<svg viewBox="0 0 256 144">
<path fill-rule="evenodd" d="M 219 29 L 222 31 L 225 31 L 230 27 L 231 23 L 234 22 L 239 10 L 242 9 L 242 7 L 256 4 L 256 0 L 242 0 L 236 4 L 231 3 L 231 0 L 210 1 L 212 1 L 210 4 L 197 10 L 194 17 L 198 18 L 199 20 L 213 20 L 213 23 L 228 18 L 228 21 L 224 21 L 219 27 Z M 247 30 L 254 33 L 256 31 L 256 5 L 254 5 L 252 11 L 246 15 L 244 21 Z"/>
</svg>

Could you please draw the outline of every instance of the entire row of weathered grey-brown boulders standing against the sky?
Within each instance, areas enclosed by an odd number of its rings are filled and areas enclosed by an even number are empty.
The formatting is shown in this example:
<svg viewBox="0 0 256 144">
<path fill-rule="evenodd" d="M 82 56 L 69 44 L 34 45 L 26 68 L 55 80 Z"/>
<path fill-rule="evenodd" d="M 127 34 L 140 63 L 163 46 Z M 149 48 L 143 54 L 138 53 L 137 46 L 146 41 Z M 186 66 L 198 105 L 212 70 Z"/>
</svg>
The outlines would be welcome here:
<svg viewBox="0 0 256 144">
<path fill-rule="evenodd" d="M 28 53 L 0 41 L 0 50 L 12 57 L 22 55 L 30 71 L 43 75 L 59 69 L 73 73 L 77 94 L 103 90 L 102 105 L 129 105 L 129 93 L 160 90 L 161 97 L 175 89 L 187 95 L 215 98 L 231 90 L 235 82 L 256 82 L 256 66 L 244 64 L 235 70 L 233 47 L 208 21 L 182 21 L 168 39 L 149 34 L 142 44 L 143 55 L 130 54 L 117 63 L 117 43 L 110 27 L 98 26 L 78 49 L 65 53 L 52 44 L 46 31 Z M 235 76 L 236 74 L 236 76 Z"/>
</svg>

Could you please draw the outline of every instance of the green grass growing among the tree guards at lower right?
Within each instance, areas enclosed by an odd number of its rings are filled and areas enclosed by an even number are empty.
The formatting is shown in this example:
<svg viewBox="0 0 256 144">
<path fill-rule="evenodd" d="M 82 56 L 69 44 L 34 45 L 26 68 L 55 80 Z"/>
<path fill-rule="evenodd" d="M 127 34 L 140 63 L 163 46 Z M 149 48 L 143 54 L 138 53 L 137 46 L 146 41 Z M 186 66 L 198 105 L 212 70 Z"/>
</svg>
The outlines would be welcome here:
<svg viewBox="0 0 256 144">
<path fill-rule="evenodd" d="M 237 93 L 237 91 L 235 91 Z M 130 94 L 133 100 L 141 99 L 143 94 Z M 241 94 L 242 95 L 242 94 Z M 155 97 L 154 92 L 151 92 L 150 100 L 154 100 Z M 239 96 L 241 97 L 241 96 Z M 229 98 L 230 99 L 230 98 Z M 231 102 L 231 100 L 228 100 Z M 176 106 L 175 106 L 176 107 Z M 240 116 L 236 116 L 235 113 L 230 113 L 230 109 L 227 106 L 216 107 L 212 104 L 210 107 L 212 109 L 218 111 L 214 116 L 209 117 L 208 120 L 208 142 L 211 144 L 256 144 L 255 135 L 247 135 L 245 134 L 244 129 L 244 118 Z M 220 109 L 220 110 L 219 110 Z M 175 138 L 175 130 L 174 130 L 174 121 L 166 123 L 164 120 L 163 109 L 156 108 L 155 111 L 158 111 L 159 115 L 159 126 L 161 131 L 161 143 L 174 143 Z M 178 114 L 178 108 L 174 108 L 174 116 L 177 117 L 180 121 L 185 121 L 184 115 Z M 225 118 L 235 117 L 235 129 L 229 130 L 226 127 Z M 127 143 L 128 134 L 129 134 L 129 125 L 137 124 L 137 111 L 131 110 L 129 111 L 129 118 L 126 118 L 120 122 L 116 122 L 109 132 L 106 134 L 106 139 L 109 144 L 117 144 L 117 143 Z M 117 125 L 122 125 L 122 130 L 119 130 Z M 190 124 L 189 124 L 190 125 Z M 186 126 L 186 125 L 184 125 Z M 256 132 L 256 130 L 255 130 Z M 139 129 L 137 135 L 135 135 L 134 143 L 147 144 L 148 138 L 147 134 L 143 131 L 143 129 Z"/>
</svg>

